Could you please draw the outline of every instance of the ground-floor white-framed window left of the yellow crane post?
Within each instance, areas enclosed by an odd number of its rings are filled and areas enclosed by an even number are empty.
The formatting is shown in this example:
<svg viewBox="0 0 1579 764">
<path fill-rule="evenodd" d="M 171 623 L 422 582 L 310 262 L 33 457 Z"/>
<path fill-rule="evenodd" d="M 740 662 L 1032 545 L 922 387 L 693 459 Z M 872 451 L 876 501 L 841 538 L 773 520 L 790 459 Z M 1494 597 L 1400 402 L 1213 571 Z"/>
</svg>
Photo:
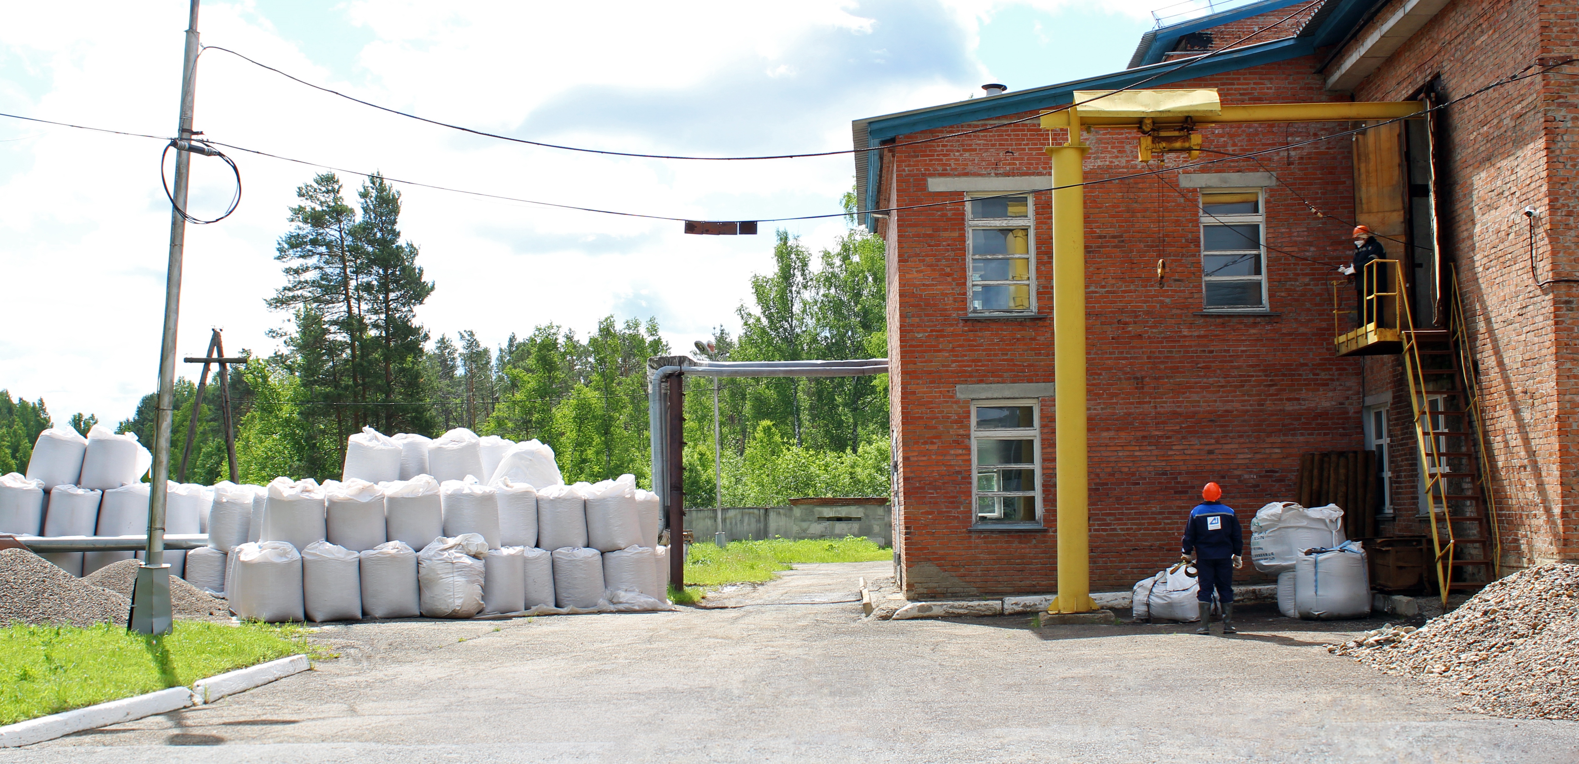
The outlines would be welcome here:
<svg viewBox="0 0 1579 764">
<path fill-rule="evenodd" d="M 1034 398 L 971 401 L 971 507 L 977 524 L 1041 521 L 1039 409 Z"/>
</svg>

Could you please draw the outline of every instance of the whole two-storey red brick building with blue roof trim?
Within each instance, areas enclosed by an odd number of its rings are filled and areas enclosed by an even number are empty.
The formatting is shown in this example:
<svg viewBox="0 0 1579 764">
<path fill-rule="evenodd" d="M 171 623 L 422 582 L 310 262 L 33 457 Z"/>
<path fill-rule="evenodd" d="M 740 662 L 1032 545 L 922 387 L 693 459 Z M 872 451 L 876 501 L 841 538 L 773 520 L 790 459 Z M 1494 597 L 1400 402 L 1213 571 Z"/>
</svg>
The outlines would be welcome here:
<svg viewBox="0 0 1579 764">
<path fill-rule="evenodd" d="M 894 524 L 906 594 L 1055 590 L 1042 148 L 1064 131 L 1044 131 L 1036 117 L 1077 90 L 1123 87 L 1216 88 L 1235 106 L 1448 106 L 1355 134 L 1345 133 L 1361 125 L 1348 122 L 1202 125 L 1197 159 L 1150 164 L 1137 163 L 1134 133 L 1086 136 L 1093 590 L 1127 587 L 1176 559 L 1184 515 L 1208 480 L 1224 485 L 1247 537 L 1262 504 L 1304 496 L 1301 458 L 1312 453 L 1378 455 L 1375 480 L 1355 494 L 1366 507 L 1345 507 L 1366 518 L 1364 535 L 1429 532 L 1399 350 L 1334 346 L 1353 320 L 1352 286 L 1337 287 L 1334 319 L 1333 281 L 1352 257 L 1356 219 L 1386 237 L 1388 257 L 1410 273 L 1405 301 L 1426 365 L 1434 347 L 1457 347 L 1446 330 L 1467 336 L 1484 445 L 1438 439 L 1443 453 L 1470 455 L 1453 456 L 1453 469 L 1442 456 L 1429 472 L 1442 475 L 1448 504 L 1470 507 L 1465 518 L 1484 511 L 1473 507 L 1489 502 L 1462 499 L 1468 483 L 1448 486 L 1467 475 L 1459 464 L 1484 455 L 1502 570 L 1579 557 L 1579 283 L 1560 281 L 1579 281 L 1579 77 L 1563 74 L 1579 65 L 1558 66 L 1579 39 L 1574 5 L 1266 0 L 1153 30 L 1120 73 L 856 120 L 857 147 L 886 147 L 857 155 L 856 169 L 862 208 L 889 210 L 867 224 L 889 248 Z M 1510 76 L 1522 79 L 1494 85 Z M 944 137 L 977 128 L 990 129 Z M 936 140 L 917 144 L 927 139 Z M 1241 156 L 1252 152 L 1266 153 Z M 1440 374 L 1432 379 L 1451 379 Z M 1416 387 L 1451 387 L 1438 382 Z M 1426 398 L 1438 418 L 1453 417 L 1451 393 Z M 1459 526 L 1461 538 L 1472 535 Z M 1459 556 L 1489 560 L 1491 540 Z M 1473 570 L 1456 576 L 1476 579 Z"/>
</svg>

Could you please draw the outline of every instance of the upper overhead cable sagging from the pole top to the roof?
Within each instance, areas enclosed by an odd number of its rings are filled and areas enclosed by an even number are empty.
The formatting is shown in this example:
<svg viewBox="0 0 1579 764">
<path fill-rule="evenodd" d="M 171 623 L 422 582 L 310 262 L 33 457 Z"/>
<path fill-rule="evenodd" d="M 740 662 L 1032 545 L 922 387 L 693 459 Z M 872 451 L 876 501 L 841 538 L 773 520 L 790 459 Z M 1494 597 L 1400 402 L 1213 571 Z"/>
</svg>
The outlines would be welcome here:
<svg viewBox="0 0 1579 764">
<path fill-rule="evenodd" d="M 1301 13 L 1311 9 L 1311 8 L 1314 8 L 1314 6 L 1317 6 L 1317 5 L 1323 3 L 1323 2 L 1325 0 L 1314 0 L 1314 2 L 1301 6 L 1295 13 L 1292 13 L 1292 14 L 1288 14 L 1288 16 L 1285 16 L 1285 17 L 1282 17 L 1282 19 L 1279 19 L 1279 21 L 1276 21 L 1276 22 L 1263 27 L 1263 28 L 1257 28 L 1257 30 L 1251 32 L 1249 35 L 1244 35 L 1240 39 L 1235 39 L 1235 41 L 1232 41 L 1232 43 L 1228 43 L 1228 44 L 1225 44 L 1225 46 L 1222 46 L 1222 47 L 1219 47 L 1216 51 L 1210 51 L 1210 52 L 1206 52 L 1203 55 L 1186 58 L 1186 60 L 1180 62 L 1178 66 L 1173 66 L 1172 69 L 1159 71 L 1159 73 L 1156 73 L 1156 74 L 1153 74 L 1153 76 L 1150 76 L 1146 79 L 1142 79 L 1142 81 L 1137 81 L 1137 82 L 1131 82 L 1129 85 L 1124 85 L 1124 87 L 1121 87 L 1118 90 L 1107 92 L 1107 93 L 1099 95 L 1096 98 L 1088 98 L 1085 101 L 1071 103 L 1071 104 L 1066 104 L 1066 106 L 1058 106 L 1058 107 L 1048 109 L 1045 112 L 1033 114 L 1030 117 L 1022 117 L 1022 118 L 1009 120 L 1009 122 L 1000 122 L 1000 123 L 987 125 L 987 126 L 982 126 L 982 128 L 973 128 L 973 129 L 966 129 L 966 131 L 960 131 L 960 133 L 949 133 L 946 136 L 933 136 L 933 137 L 924 137 L 924 139 L 917 139 L 917 140 L 906 140 L 906 142 L 902 142 L 902 144 L 873 145 L 873 147 L 867 147 L 867 148 L 840 148 L 837 152 L 805 152 L 805 153 L 758 155 L 758 156 L 687 156 L 687 155 L 658 155 L 658 153 L 638 153 L 638 152 L 609 152 L 609 150 L 603 150 L 603 148 L 583 148 L 583 147 L 575 147 L 575 145 L 548 144 L 548 142 L 542 142 L 542 140 L 527 140 L 524 137 L 501 136 L 497 133 L 488 133 L 488 131 L 482 131 L 482 129 L 466 128 L 466 126 L 461 126 L 461 125 L 452 125 L 448 122 L 433 120 L 433 118 L 428 118 L 428 117 L 418 117 L 415 114 L 403 112 L 399 109 L 392 109 L 388 106 L 379 106 L 379 104 L 376 104 L 373 101 L 363 101 L 360 98 L 349 96 L 349 95 L 341 93 L 338 90 L 327 88 L 324 85 L 316 85 L 316 84 L 308 82 L 308 81 L 305 81 L 302 77 L 297 77 L 297 76 L 292 76 L 292 74 L 286 74 L 284 71 L 279 71 L 279 69 L 276 69 L 276 68 L 273 68 L 273 66 L 270 66 L 267 63 L 253 60 L 253 58 L 249 58 L 249 57 L 246 57 L 243 54 L 231 51 L 229 47 L 202 46 L 202 51 L 199 51 L 199 55 L 202 55 L 202 52 L 205 52 L 205 51 L 223 51 L 223 52 L 227 52 L 227 54 L 231 54 L 231 55 L 234 55 L 237 58 L 242 58 L 243 62 L 248 62 L 248 63 L 251 63 L 254 66 L 261 66 L 264 69 L 268 69 L 268 71 L 272 71 L 275 74 L 279 74 L 281 77 L 286 77 L 289 81 L 298 82 L 298 84 L 306 85 L 306 87 L 309 87 L 313 90 L 321 90 L 324 93 L 336 95 L 336 96 L 344 98 L 347 101 L 354 101 L 354 103 L 358 103 L 362 106 L 368 106 L 368 107 L 373 107 L 373 109 L 377 109 L 377 110 L 382 110 L 382 112 L 395 114 L 395 115 L 412 118 L 412 120 L 417 120 L 417 122 L 426 122 L 429 125 L 437 125 L 441 128 L 450 128 L 450 129 L 458 129 L 461 133 L 471 133 L 474 136 L 493 137 L 493 139 L 499 139 L 499 140 L 510 140 L 510 142 L 515 142 L 515 144 L 527 144 L 527 145 L 535 145 L 535 147 L 542 147 L 542 148 L 557 148 L 557 150 L 564 150 L 564 152 L 595 153 L 595 155 L 605 155 L 605 156 L 632 156 L 632 158 L 638 158 L 638 159 L 695 159 L 695 161 L 804 159 L 804 158 L 812 158 L 812 156 L 838 156 L 838 155 L 846 155 L 846 153 L 853 155 L 853 153 L 878 152 L 878 150 L 883 150 L 883 148 L 900 148 L 900 147 L 906 147 L 906 145 L 932 144 L 932 142 L 936 142 L 936 140 L 947 140 L 947 139 L 954 139 L 954 137 L 960 137 L 960 136 L 971 136 L 971 134 L 976 134 L 976 133 L 984 133 L 984 131 L 988 131 L 988 129 L 998 129 L 998 128 L 1003 128 L 1006 125 L 1018 125 L 1018 123 L 1023 123 L 1023 122 L 1041 120 L 1042 114 L 1055 114 L 1055 112 L 1067 110 L 1067 109 L 1072 109 L 1072 107 L 1077 107 L 1077 106 L 1083 106 L 1083 104 L 1088 104 L 1088 103 L 1101 99 L 1101 98 L 1107 98 L 1107 96 L 1112 96 L 1112 95 L 1116 95 L 1116 93 L 1123 93 L 1126 90 L 1132 90 L 1132 88 L 1137 88 L 1137 87 L 1145 85 L 1148 82 L 1153 82 L 1157 77 L 1162 77 L 1165 74 L 1173 74 L 1173 73 L 1176 73 L 1176 71 L 1180 71 L 1180 69 L 1183 69 L 1186 66 L 1192 66 L 1192 65 L 1205 62 L 1205 60 L 1208 60 L 1208 58 L 1211 58 L 1214 55 L 1221 55 L 1221 54 L 1224 54 L 1227 51 L 1232 51 L 1235 46 L 1238 46 L 1238 44 L 1241 44 L 1241 43 L 1244 43 L 1244 41 L 1247 41 L 1247 39 L 1251 39 L 1254 36 L 1262 35 L 1263 32 L 1268 32 L 1271 28 L 1276 28 L 1276 27 L 1282 25 L 1284 22 L 1293 19 L 1295 16 L 1298 16 L 1298 14 L 1301 14 Z"/>
</svg>

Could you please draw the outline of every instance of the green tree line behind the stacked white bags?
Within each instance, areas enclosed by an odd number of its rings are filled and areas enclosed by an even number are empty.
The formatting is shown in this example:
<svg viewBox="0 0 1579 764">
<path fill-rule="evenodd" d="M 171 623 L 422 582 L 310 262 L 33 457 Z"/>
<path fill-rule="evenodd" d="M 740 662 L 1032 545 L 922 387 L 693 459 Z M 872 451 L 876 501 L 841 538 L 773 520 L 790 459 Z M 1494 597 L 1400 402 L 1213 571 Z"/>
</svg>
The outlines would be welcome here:
<svg viewBox="0 0 1579 764">
<path fill-rule="evenodd" d="M 276 246 L 284 284 L 267 301 L 286 319 L 272 331 L 283 347 L 231 374 L 245 481 L 336 478 L 346 439 L 363 426 L 429 437 L 464 426 L 548 444 L 567 481 L 630 472 L 651 486 L 647 358 L 676 352 L 655 319 L 606 316 L 584 333 L 549 322 L 497 347 L 474 331 L 433 338 L 415 311 L 436 284 L 401 235 L 399 191 L 374 175 L 355 204 L 344 194 L 335 174 L 297 189 Z M 753 276 L 750 301 L 737 308 L 739 336 L 717 328 L 698 339 L 720 360 L 883 357 L 883 257 L 881 240 L 862 229 L 815 254 L 780 230 L 774 270 Z M 188 481 L 226 477 L 213 385 Z M 175 393 L 172 477 L 196 385 L 182 379 Z M 712 507 L 712 382 L 688 377 L 687 393 L 687 504 Z M 118 429 L 152 442 L 153 401 L 145 396 Z M 718 409 L 725 504 L 887 496 L 886 376 L 729 379 Z"/>
</svg>

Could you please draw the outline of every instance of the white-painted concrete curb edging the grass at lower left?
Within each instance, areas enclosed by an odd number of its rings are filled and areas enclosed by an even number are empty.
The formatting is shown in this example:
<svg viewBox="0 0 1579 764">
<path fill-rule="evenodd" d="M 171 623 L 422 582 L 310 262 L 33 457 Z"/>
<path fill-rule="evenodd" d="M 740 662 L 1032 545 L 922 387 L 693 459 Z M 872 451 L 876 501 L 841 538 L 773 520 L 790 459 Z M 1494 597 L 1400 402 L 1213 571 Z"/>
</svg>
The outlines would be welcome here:
<svg viewBox="0 0 1579 764">
<path fill-rule="evenodd" d="M 257 666 L 199 679 L 193 682 L 191 688 L 172 687 L 136 698 L 122 698 L 85 709 L 63 710 L 47 717 L 17 721 L 16 725 L 0 726 L 0 748 L 41 743 L 84 729 L 136 721 L 155 713 L 169 713 L 188 706 L 213 702 L 227 695 L 262 687 L 291 674 L 300 674 L 309 668 L 313 666 L 308 663 L 306 655 L 291 655 L 289 658 L 272 660 Z"/>
</svg>

